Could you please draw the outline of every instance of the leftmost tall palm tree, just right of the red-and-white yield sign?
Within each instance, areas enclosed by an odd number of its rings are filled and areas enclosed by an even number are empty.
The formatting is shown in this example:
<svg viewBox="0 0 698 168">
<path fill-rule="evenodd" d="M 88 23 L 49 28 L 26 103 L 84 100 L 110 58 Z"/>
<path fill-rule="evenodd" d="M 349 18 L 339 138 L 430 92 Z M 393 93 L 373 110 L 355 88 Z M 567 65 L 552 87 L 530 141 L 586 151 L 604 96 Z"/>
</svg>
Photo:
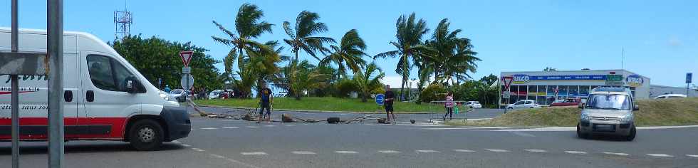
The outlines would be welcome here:
<svg viewBox="0 0 698 168">
<path fill-rule="evenodd" d="M 221 38 L 217 36 L 211 36 L 214 41 L 223 43 L 226 46 L 232 46 L 228 55 L 224 59 L 224 65 L 226 65 L 226 70 L 232 70 L 232 61 L 237 60 L 238 69 L 244 68 L 244 59 L 247 56 L 244 53 L 248 53 L 254 48 L 258 50 L 271 51 L 273 49 L 268 46 L 264 46 L 262 43 L 253 41 L 252 39 L 259 37 L 262 33 L 271 33 L 271 26 L 274 24 L 267 23 L 266 21 L 259 21 L 261 17 L 264 16 L 264 12 L 261 11 L 254 4 L 242 4 L 240 9 L 238 9 L 237 16 L 235 17 L 235 33 L 229 31 L 222 24 L 217 21 L 213 23 L 225 33 L 229 38 Z M 229 74 L 232 74 L 229 72 Z"/>
</svg>

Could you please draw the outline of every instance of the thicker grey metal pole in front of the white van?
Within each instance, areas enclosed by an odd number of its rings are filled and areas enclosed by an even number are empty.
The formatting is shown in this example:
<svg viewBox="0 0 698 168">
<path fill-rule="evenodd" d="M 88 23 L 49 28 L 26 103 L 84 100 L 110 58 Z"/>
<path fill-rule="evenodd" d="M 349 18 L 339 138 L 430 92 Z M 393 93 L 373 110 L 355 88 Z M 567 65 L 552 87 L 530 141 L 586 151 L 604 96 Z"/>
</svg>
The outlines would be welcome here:
<svg viewBox="0 0 698 168">
<path fill-rule="evenodd" d="M 63 167 L 63 0 L 48 0 L 48 167 Z"/>
</svg>

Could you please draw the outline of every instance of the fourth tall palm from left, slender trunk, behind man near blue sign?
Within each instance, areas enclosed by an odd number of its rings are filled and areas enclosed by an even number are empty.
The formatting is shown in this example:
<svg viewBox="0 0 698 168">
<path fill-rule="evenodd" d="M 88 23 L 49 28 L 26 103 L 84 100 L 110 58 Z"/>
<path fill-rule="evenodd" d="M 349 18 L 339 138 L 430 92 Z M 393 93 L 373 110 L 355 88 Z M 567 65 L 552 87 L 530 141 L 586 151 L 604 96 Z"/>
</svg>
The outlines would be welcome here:
<svg viewBox="0 0 698 168">
<path fill-rule="evenodd" d="M 410 76 L 410 70 L 412 65 L 410 65 L 410 58 L 414 59 L 416 56 L 420 56 L 429 51 L 427 46 L 422 45 L 422 36 L 429 31 L 427 28 L 427 22 L 424 19 L 420 19 L 415 22 L 415 13 L 410 14 L 410 16 L 402 15 L 397 19 L 395 23 L 397 32 L 395 33 L 396 41 L 390 41 L 392 46 L 395 46 L 395 51 L 387 51 L 385 53 L 379 53 L 373 58 L 385 58 L 385 57 L 400 57 L 400 61 L 397 62 L 397 67 L 395 68 L 395 73 L 402 75 L 402 84 L 400 85 L 400 95 L 405 90 L 405 83 L 407 83 L 407 78 Z M 402 96 L 401 96 L 402 97 Z"/>
</svg>

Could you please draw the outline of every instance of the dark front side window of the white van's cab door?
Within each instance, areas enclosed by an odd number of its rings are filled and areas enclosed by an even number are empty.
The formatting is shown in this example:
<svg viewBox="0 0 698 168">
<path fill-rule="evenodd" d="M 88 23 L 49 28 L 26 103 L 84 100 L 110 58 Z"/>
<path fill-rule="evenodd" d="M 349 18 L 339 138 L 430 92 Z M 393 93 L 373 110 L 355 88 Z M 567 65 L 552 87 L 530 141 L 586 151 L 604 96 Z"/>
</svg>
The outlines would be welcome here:
<svg viewBox="0 0 698 168">
<path fill-rule="evenodd" d="M 101 90 L 125 92 L 125 80 L 130 73 L 123 65 L 113 58 L 98 55 L 87 56 L 90 80 Z"/>
</svg>

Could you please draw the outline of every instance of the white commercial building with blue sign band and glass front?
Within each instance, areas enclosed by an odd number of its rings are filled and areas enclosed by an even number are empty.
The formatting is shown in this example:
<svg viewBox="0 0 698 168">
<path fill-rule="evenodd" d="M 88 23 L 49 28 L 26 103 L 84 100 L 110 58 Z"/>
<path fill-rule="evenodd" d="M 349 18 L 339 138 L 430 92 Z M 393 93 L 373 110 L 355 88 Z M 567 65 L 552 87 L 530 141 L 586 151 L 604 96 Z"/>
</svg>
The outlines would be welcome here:
<svg viewBox="0 0 698 168">
<path fill-rule="evenodd" d="M 518 100 L 550 105 L 556 98 L 585 98 L 590 90 L 607 85 L 630 88 L 637 99 L 650 98 L 650 78 L 622 69 L 502 72 L 500 78 L 500 105 Z"/>
</svg>

